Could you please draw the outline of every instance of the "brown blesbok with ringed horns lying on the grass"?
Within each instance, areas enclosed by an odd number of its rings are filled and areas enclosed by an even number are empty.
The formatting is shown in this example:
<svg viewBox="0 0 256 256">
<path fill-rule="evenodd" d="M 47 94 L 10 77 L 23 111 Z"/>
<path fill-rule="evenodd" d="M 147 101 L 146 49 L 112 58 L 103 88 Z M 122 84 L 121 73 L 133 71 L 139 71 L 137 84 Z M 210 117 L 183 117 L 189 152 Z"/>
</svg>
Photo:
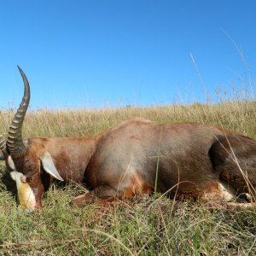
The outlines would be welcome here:
<svg viewBox="0 0 256 256">
<path fill-rule="evenodd" d="M 15 180 L 20 207 L 32 211 L 54 178 L 85 183 L 89 193 L 73 205 L 131 198 L 154 191 L 230 201 L 255 196 L 256 141 L 212 125 L 156 124 L 129 119 L 95 137 L 38 137 L 23 140 L 30 87 L 20 67 L 24 96 L 0 137 L 2 158 Z"/>
</svg>

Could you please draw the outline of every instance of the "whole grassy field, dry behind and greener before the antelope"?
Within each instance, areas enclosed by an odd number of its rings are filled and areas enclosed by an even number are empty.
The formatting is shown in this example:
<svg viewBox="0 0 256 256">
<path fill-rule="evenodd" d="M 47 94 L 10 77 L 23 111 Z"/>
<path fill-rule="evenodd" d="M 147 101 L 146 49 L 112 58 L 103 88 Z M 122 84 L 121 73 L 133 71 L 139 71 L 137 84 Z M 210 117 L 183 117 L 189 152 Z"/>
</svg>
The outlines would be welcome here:
<svg viewBox="0 0 256 256">
<path fill-rule="evenodd" d="M 5 136 L 13 115 L 0 113 Z M 30 111 L 23 137 L 92 136 L 135 116 L 218 125 L 256 139 L 256 102 Z M 145 195 L 75 209 L 70 201 L 86 189 L 54 183 L 44 208 L 26 215 L 17 209 L 15 183 L 3 162 L 0 170 L 0 255 L 256 255 L 256 208 L 210 211 L 202 201 Z"/>
</svg>

